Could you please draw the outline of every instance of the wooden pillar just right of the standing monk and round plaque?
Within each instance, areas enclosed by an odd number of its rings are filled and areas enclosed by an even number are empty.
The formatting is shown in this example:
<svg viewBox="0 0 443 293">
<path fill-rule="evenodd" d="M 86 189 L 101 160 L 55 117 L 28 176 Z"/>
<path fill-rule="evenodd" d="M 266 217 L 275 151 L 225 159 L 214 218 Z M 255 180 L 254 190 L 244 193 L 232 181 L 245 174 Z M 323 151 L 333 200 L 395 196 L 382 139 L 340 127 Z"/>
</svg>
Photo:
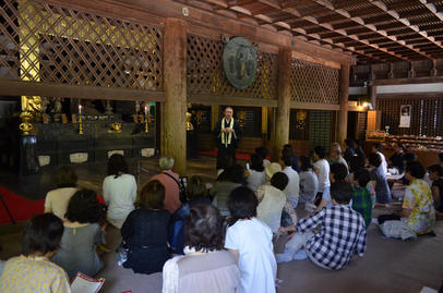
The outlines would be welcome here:
<svg viewBox="0 0 443 293">
<path fill-rule="evenodd" d="M 272 151 L 273 161 L 278 161 L 283 146 L 289 142 L 290 61 L 290 48 L 280 48 L 278 54 L 278 105 L 274 129 L 275 143 Z"/>
</svg>

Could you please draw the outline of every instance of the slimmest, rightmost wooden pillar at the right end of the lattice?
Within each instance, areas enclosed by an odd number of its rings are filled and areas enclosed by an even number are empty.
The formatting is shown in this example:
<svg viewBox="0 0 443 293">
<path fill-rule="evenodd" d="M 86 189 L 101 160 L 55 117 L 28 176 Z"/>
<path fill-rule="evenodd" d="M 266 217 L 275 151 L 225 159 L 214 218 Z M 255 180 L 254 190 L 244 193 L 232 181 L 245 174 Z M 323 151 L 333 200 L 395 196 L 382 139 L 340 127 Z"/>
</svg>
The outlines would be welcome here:
<svg viewBox="0 0 443 293">
<path fill-rule="evenodd" d="M 339 101 L 337 142 L 344 144 L 348 131 L 349 65 L 342 65 L 339 81 Z"/>
</svg>

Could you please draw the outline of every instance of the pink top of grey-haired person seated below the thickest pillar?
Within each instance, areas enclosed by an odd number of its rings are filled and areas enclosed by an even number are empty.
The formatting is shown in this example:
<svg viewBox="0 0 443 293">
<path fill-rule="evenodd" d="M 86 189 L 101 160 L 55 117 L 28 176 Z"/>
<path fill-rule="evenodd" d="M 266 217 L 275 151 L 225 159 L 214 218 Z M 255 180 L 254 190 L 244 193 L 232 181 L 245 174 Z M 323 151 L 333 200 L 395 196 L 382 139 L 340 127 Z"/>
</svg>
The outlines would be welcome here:
<svg viewBox="0 0 443 293">
<path fill-rule="evenodd" d="M 179 174 L 171 170 L 163 171 L 172 175 L 175 179 L 179 180 Z M 175 212 L 181 205 L 180 203 L 180 191 L 177 182 L 170 176 L 159 173 L 149 179 L 149 181 L 158 180 L 163 186 L 165 186 L 165 209 L 169 210 L 170 213 Z"/>
</svg>

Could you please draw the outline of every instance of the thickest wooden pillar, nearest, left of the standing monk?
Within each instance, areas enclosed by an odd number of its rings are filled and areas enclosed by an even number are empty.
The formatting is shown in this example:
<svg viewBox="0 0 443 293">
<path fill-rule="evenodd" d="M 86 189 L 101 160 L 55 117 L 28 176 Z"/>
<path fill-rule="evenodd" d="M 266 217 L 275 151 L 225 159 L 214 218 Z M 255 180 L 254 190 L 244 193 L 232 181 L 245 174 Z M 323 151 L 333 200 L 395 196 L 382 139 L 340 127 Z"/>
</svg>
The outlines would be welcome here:
<svg viewBox="0 0 443 293">
<path fill-rule="evenodd" d="M 176 160 L 175 170 L 187 171 L 187 23 L 167 19 L 164 37 L 165 111 L 164 154 Z"/>
</svg>

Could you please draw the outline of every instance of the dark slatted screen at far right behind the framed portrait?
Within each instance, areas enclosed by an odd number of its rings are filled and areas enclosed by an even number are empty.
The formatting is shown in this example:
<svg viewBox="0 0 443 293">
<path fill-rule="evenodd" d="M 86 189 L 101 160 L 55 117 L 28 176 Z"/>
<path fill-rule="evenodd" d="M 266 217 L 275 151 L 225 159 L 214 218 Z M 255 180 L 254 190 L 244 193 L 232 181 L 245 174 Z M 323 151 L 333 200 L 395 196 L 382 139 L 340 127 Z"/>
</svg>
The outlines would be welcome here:
<svg viewBox="0 0 443 293">
<path fill-rule="evenodd" d="M 410 127 L 398 127 L 400 106 L 411 105 Z M 443 135 L 443 99 L 441 98 L 380 98 L 376 108 L 382 112 L 382 130 L 390 126 L 391 134 Z"/>
</svg>

